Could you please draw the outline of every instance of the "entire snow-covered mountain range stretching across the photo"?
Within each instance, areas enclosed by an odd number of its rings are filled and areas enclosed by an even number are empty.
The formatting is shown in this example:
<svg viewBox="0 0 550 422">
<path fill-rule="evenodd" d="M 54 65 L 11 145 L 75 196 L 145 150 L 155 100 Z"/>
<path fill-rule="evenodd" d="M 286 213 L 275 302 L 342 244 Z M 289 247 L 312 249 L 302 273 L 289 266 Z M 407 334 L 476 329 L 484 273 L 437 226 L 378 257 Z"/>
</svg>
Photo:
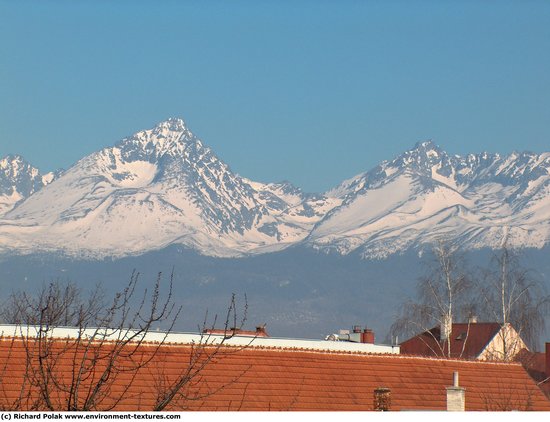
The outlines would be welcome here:
<svg viewBox="0 0 550 422">
<path fill-rule="evenodd" d="M 460 157 L 422 142 L 325 194 L 305 194 L 233 173 L 169 119 L 51 183 L 28 169 L 34 176 L 17 180 L 35 182 L 17 188 L 10 180 L 25 172 L 0 173 L 0 198 L 13 198 L 0 215 L 2 253 L 121 257 L 175 244 L 237 257 L 300 244 L 372 258 L 441 237 L 467 248 L 550 240 L 550 153 Z"/>
</svg>

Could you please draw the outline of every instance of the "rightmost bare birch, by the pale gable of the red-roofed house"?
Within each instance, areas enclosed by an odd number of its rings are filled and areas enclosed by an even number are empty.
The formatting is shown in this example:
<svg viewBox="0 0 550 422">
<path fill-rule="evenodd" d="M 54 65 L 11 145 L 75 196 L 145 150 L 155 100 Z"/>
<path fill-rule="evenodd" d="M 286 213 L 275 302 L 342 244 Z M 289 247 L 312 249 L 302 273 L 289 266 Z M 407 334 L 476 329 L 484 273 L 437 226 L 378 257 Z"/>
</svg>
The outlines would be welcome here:
<svg viewBox="0 0 550 422">
<path fill-rule="evenodd" d="M 504 328 L 499 333 L 502 349 L 495 352 L 495 359 L 513 358 L 523 341 L 528 347 L 537 348 L 545 329 L 550 296 L 534 273 L 521 265 L 517 250 L 510 249 L 505 242 L 503 248 L 493 255 L 490 268 L 482 270 L 476 290 L 479 292 L 480 316 L 496 321 Z"/>
</svg>

